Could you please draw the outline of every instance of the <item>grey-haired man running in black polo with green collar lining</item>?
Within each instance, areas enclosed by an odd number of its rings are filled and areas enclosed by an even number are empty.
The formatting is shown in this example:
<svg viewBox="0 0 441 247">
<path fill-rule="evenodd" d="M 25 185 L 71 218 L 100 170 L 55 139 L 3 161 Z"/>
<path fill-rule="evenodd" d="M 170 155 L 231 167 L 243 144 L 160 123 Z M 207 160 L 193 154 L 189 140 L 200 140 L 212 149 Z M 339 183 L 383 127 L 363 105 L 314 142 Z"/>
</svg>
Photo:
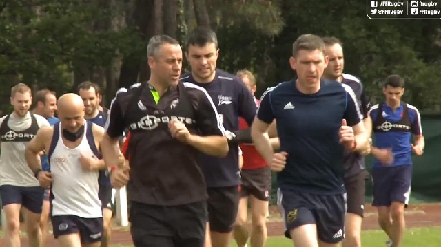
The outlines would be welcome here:
<svg viewBox="0 0 441 247">
<path fill-rule="evenodd" d="M 147 57 L 150 80 L 128 91 L 119 89 L 112 100 L 102 143 L 104 159 L 114 164 L 113 186 L 120 188 L 128 181 L 136 247 L 202 247 L 207 186 L 197 156 L 225 157 L 225 130 L 205 89 L 179 81 L 183 58 L 178 41 L 152 37 Z M 115 163 L 126 127 L 130 176 L 128 167 Z"/>
</svg>

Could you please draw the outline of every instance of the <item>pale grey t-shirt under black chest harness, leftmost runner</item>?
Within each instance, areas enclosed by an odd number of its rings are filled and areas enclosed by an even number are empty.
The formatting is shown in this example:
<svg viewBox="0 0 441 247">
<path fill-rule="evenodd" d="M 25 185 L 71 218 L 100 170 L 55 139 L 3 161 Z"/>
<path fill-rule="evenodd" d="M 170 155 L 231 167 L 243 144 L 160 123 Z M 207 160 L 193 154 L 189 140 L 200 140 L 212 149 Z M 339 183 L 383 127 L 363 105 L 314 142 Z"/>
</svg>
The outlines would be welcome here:
<svg viewBox="0 0 441 247">
<path fill-rule="evenodd" d="M 8 116 L 8 115 L 6 115 Z M 0 126 L 6 116 L 0 118 Z M 50 127 L 50 124 L 43 116 L 34 114 L 39 128 Z M 11 114 L 8 120 L 8 127 L 12 131 L 25 131 L 32 124 L 30 113 L 24 118 L 16 118 Z M 0 185 L 13 185 L 21 187 L 39 186 L 38 180 L 34 177 L 28 163 L 25 160 L 25 149 L 29 142 L 1 142 L 0 153 Z"/>
</svg>

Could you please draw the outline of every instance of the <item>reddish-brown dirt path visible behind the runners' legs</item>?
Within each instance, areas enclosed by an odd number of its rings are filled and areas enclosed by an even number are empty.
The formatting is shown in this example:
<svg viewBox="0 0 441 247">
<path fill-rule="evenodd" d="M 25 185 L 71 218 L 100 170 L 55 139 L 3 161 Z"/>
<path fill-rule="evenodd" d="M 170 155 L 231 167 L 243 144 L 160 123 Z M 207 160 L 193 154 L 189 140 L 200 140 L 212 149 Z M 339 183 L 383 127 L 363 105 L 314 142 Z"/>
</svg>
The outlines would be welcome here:
<svg viewBox="0 0 441 247">
<path fill-rule="evenodd" d="M 376 209 L 371 206 L 366 206 L 365 212 L 362 229 L 378 229 Z M 278 213 L 277 208 L 271 208 L 271 215 L 271 220 L 267 223 L 268 235 L 283 235 L 285 226 L 280 221 L 280 214 Z M 408 228 L 441 226 L 441 204 L 420 204 L 418 206 L 409 206 L 406 211 L 406 225 Z M 127 230 L 114 230 L 112 233 L 112 244 L 132 244 L 130 233 Z M 0 239 L 0 246 L 3 246 L 2 239 Z M 22 239 L 21 246 L 28 247 L 27 239 Z M 52 237 L 50 237 L 46 246 L 57 246 L 57 243 Z"/>
</svg>

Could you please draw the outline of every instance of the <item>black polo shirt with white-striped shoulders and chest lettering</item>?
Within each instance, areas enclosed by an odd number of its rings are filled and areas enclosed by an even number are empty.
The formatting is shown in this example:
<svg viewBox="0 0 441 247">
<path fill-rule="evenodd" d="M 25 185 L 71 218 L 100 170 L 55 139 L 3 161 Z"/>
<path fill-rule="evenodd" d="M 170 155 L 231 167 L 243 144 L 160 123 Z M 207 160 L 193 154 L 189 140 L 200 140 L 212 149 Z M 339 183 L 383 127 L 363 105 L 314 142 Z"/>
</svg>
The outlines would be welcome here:
<svg viewBox="0 0 441 247">
<path fill-rule="evenodd" d="M 223 125 L 205 89 L 191 83 L 170 87 L 155 103 L 147 85 L 120 89 L 110 107 L 107 134 L 118 138 L 130 130 L 130 200 L 154 205 L 181 205 L 207 198 L 198 150 L 172 138 L 168 122 L 177 118 L 191 133 L 221 136 Z"/>
</svg>

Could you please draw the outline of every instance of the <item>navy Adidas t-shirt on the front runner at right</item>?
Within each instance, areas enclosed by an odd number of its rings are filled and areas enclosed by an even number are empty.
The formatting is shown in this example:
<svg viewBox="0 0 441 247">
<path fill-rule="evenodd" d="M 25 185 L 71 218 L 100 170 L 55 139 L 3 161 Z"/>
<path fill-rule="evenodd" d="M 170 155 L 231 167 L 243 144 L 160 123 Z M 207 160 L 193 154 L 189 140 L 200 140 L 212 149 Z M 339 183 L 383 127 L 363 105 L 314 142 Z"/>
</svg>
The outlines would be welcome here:
<svg viewBox="0 0 441 247">
<path fill-rule="evenodd" d="M 288 153 L 285 169 L 277 174 L 280 189 L 345 192 L 338 130 L 342 119 L 349 126 L 362 119 L 350 87 L 322 80 L 316 94 L 302 94 L 295 80 L 280 83 L 263 94 L 257 117 L 268 124 L 276 119 L 280 151 Z"/>
</svg>

